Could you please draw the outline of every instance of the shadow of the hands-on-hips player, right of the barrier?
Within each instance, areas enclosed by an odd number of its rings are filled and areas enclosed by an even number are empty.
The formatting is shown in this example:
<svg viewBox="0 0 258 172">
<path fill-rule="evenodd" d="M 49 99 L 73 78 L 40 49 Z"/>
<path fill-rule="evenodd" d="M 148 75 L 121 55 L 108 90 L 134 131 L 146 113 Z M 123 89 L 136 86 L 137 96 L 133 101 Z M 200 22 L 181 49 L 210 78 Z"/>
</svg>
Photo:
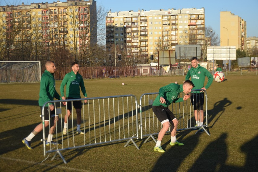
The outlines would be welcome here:
<svg viewBox="0 0 258 172">
<path fill-rule="evenodd" d="M 223 100 L 220 100 L 220 101 L 214 103 L 213 109 L 210 109 L 207 111 L 207 113 L 209 115 L 209 119 L 208 119 L 209 128 L 213 127 L 213 125 L 218 121 L 220 116 L 223 115 L 225 108 L 227 106 L 230 106 L 231 104 L 232 104 L 232 102 L 229 99 L 227 99 L 227 97 L 224 98 Z M 217 116 L 217 119 L 214 122 L 212 122 L 213 119 L 215 118 L 215 116 Z M 212 122 L 212 124 L 211 124 L 211 122 Z"/>
</svg>

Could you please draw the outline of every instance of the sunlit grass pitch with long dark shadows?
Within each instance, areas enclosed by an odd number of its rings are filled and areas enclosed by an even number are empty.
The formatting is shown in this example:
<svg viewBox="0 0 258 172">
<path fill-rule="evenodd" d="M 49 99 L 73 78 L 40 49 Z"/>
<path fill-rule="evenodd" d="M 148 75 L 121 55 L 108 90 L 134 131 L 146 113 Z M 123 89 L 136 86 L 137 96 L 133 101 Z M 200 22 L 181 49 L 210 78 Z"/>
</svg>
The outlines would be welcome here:
<svg viewBox="0 0 258 172">
<path fill-rule="evenodd" d="M 139 101 L 143 93 L 158 92 L 175 81 L 181 84 L 184 78 L 108 78 L 84 83 L 88 97 L 133 94 Z M 184 146 L 170 147 L 167 134 L 161 143 L 164 154 L 154 152 L 154 141 L 143 143 L 144 139 L 135 140 L 140 150 L 124 148 L 123 141 L 62 151 L 68 164 L 61 159 L 51 161 L 54 153 L 41 163 L 48 156 L 43 155 L 42 132 L 33 138 L 33 150 L 21 142 L 41 122 L 39 83 L 1 84 L 0 171 L 258 171 L 258 76 L 229 75 L 226 79 L 213 81 L 207 90 L 210 136 L 179 131 L 177 139 Z M 59 93 L 60 84 L 56 81 Z"/>
</svg>

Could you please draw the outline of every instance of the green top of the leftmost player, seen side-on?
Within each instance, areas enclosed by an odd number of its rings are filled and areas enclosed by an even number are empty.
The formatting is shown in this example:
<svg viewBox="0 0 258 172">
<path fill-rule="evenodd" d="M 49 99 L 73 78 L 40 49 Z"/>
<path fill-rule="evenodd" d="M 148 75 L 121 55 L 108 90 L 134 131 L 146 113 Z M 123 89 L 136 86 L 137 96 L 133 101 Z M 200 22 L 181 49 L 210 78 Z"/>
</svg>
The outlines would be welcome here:
<svg viewBox="0 0 258 172">
<path fill-rule="evenodd" d="M 47 70 L 41 76 L 40 89 L 39 89 L 39 106 L 43 106 L 48 101 L 56 99 L 62 99 L 55 90 L 55 78 L 54 73 L 50 73 Z M 54 103 L 53 103 L 54 104 Z M 48 104 L 46 105 L 48 106 Z"/>
</svg>

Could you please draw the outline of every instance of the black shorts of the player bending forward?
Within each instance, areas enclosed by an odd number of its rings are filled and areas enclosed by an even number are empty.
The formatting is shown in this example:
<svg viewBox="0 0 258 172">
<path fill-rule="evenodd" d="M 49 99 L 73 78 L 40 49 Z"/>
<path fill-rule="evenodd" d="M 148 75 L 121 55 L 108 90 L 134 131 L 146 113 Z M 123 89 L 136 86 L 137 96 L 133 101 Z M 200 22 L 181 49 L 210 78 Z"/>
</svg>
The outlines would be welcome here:
<svg viewBox="0 0 258 172">
<path fill-rule="evenodd" d="M 175 119 L 175 115 L 167 107 L 162 105 L 152 106 L 152 111 L 157 116 L 158 120 L 163 124 L 164 122 L 171 122 Z"/>
</svg>

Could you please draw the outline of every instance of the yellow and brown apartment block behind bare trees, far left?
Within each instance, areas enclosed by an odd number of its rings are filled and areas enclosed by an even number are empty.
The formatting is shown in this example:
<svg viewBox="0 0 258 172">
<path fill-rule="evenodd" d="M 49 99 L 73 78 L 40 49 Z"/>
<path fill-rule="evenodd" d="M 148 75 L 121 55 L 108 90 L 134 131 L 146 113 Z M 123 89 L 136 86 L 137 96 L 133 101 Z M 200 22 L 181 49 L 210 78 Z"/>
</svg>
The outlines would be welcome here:
<svg viewBox="0 0 258 172">
<path fill-rule="evenodd" d="M 97 44 L 96 1 L 0 6 L 1 40 L 62 44 L 70 50 Z"/>
</svg>

